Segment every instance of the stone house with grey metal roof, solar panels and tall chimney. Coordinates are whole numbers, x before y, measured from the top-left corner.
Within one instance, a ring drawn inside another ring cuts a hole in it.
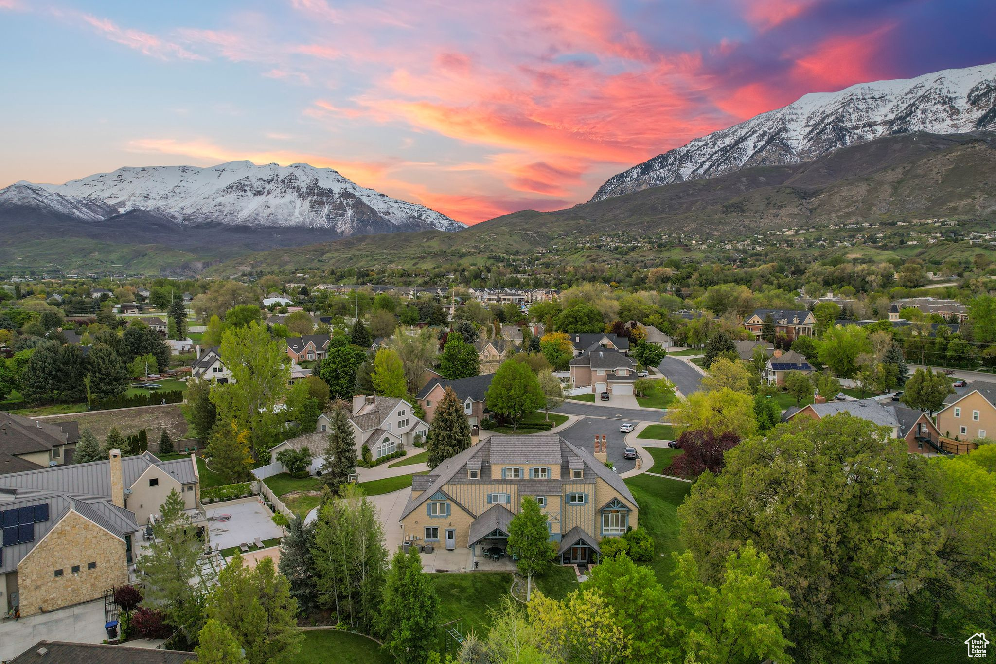
[[[33,615],[104,596],[132,580],[139,533],[169,492],[206,531],[192,458],[149,453],[0,476],[0,608]]]

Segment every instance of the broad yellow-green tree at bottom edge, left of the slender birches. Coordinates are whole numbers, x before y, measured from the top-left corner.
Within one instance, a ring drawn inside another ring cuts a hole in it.
[[[297,612],[287,578],[277,573],[273,558],[249,567],[238,552],[218,572],[205,606],[209,619],[231,630],[247,664],[287,662],[297,654],[304,639]]]

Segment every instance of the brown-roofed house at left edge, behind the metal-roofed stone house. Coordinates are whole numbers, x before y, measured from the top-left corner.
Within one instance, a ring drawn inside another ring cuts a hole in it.
[[[0,475],[73,463],[80,426],[0,411]]]

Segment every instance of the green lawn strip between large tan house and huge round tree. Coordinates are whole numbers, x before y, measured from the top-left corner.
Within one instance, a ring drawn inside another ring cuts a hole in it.
[[[639,505],[639,527],[646,529],[656,543],[650,566],[657,580],[669,586],[674,569],[671,552],[683,551],[677,509],[691,491],[691,485],[646,474],[631,477],[625,484]]]

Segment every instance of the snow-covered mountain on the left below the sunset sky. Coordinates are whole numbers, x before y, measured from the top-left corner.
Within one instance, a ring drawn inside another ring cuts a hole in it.
[[[18,182],[0,205],[54,209],[81,221],[145,210],[181,226],[313,228],[348,236],[464,225],[422,205],[361,187],[332,168],[229,161],[217,166],[124,167],[65,184]]]

